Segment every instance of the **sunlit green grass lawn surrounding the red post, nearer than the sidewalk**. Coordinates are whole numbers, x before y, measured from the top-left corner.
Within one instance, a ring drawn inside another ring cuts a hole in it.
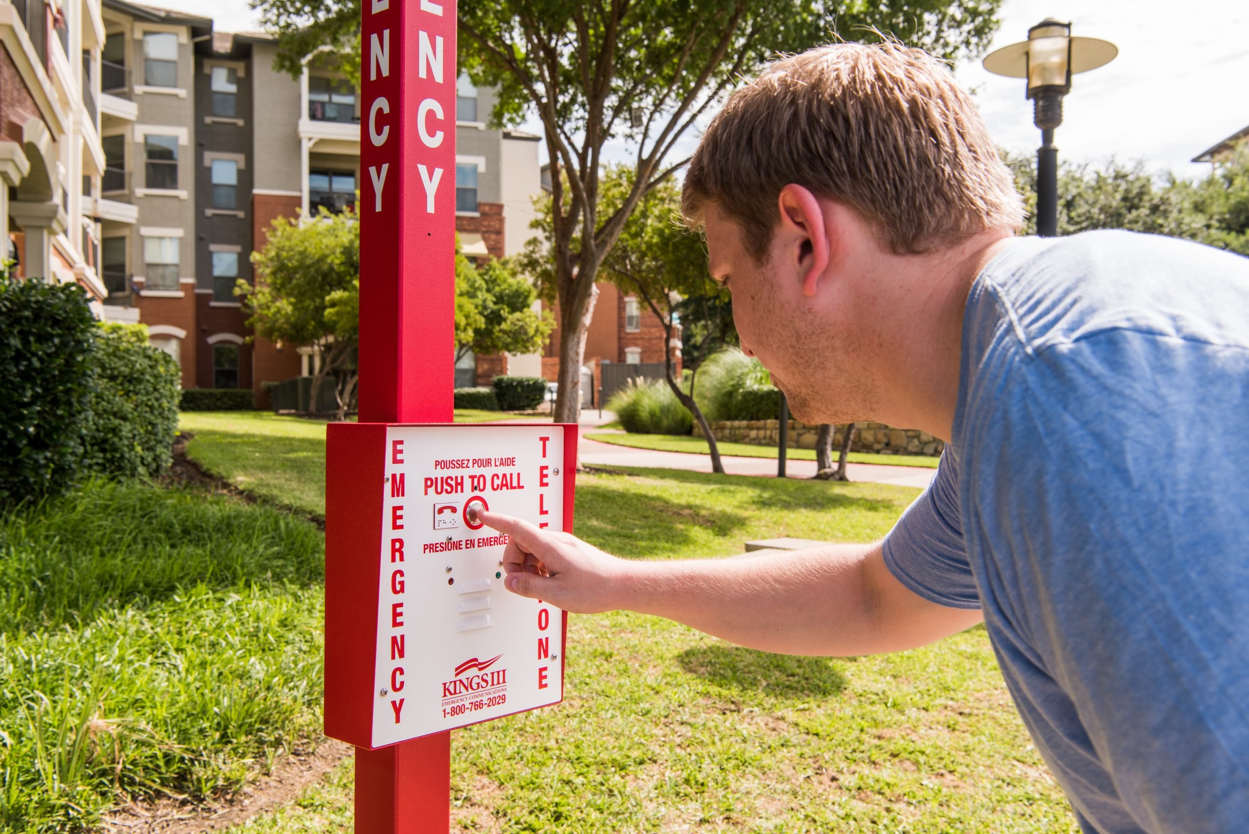
[[[205,466],[274,501],[299,483],[299,509],[323,507],[323,424],[182,426]],[[866,541],[916,494],[581,474],[576,532],[629,558]],[[315,743],[322,542],[280,509],[149,486],[0,521],[0,832],[76,830],[126,794],[221,794]],[[856,659],[741,649],[632,613],[573,617],[568,638],[563,704],[455,733],[456,830],[1077,830],[983,629]],[[346,834],[351,787],[343,763],[232,830]]]

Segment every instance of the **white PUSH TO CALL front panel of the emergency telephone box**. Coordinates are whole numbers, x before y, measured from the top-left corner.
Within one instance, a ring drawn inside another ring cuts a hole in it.
[[[558,703],[563,612],[503,587],[471,503],[563,529],[558,426],[390,426],[373,747]],[[466,517],[467,516],[467,517]]]

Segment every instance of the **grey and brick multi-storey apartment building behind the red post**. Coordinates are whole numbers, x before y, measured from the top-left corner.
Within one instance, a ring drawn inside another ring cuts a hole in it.
[[[105,316],[141,321],[186,388],[251,388],[315,371],[307,346],[251,338],[234,296],[277,217],[341,212],[360,190],[360,95],[313,54],[299,79],[276,42],[125,0],[104,2]],[[456,225],[471,257],[533,232],[537,137],[488,130],[490,90],[460,84]],[[537,373],[541,357],[470,357],[457,375]]]

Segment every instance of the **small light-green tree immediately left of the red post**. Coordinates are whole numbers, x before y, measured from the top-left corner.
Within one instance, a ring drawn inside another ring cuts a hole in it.
[[[312,345],[321,361],[312,377],[310,407],[335,378],[336,419],[355,411],[360,370],[360,222],[350,211],[321,208],[312,218],[279,217],[264,251],[251,256],[256,286],[239,281],[235,293],[247,326],[274,342]]]

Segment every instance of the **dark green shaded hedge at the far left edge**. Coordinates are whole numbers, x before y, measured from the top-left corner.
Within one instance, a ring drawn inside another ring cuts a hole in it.
[[[80,287],[0,272],[0,503],[64,492],[77,472],[94,332]]]

